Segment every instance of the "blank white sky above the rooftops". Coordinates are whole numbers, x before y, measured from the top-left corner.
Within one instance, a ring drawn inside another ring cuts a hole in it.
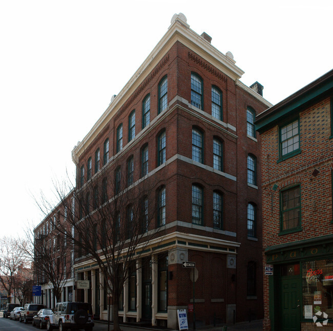
[[[40,222],[32,195],[54,198],[77,141],[180,12],[272,104],[332,69],[331,0],[0,0],[0,236]]]

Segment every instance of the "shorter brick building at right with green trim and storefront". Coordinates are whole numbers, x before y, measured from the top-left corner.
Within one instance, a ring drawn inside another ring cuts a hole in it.
[[[256,119],[263,264],[273,266],[264,275],[266,331],[332,328],[332,95],[329,71]]]

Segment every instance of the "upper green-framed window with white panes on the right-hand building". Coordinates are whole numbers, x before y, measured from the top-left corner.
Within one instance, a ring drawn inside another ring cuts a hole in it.
[[[300,120],[288,122],[279,128],[280,159],[292,157],[301,152],[300,149]]]

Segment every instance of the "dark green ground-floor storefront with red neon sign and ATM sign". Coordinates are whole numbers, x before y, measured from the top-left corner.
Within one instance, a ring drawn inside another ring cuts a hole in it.
[[[264,331],[333,329],[333,236],[267,247],[264,261]]]

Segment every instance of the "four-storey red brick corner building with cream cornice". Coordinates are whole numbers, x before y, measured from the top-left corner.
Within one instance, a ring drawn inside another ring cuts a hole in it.
[[[159,240],[136,265],[143,259],[159,263],[138,267],[125,283],[119,303],[124,322],[176,328],[176,309],[193,302],[186,261],[195,262],[198,275],[197,325],[212,324],[214,316],[217,322],[263,317],[260,139],[254,119],[272,105],[258,82],[252,88],[242,84],[242,74],[230,52],[222,54],[209,35],[198,35],[183,14],[174,15],[72,152],[77,194],[103,174],[115,174],[117,181],[118,169],[126,172],[128,187],[149,180],[154,190],[147,232],[158,228]],[[105,182],[96,184],[93,196]],[[74,286],[75,300],[91,301],[94,314],[107,319],[107,292],[94,261],[78,254],[74,275],[91,284]]]

